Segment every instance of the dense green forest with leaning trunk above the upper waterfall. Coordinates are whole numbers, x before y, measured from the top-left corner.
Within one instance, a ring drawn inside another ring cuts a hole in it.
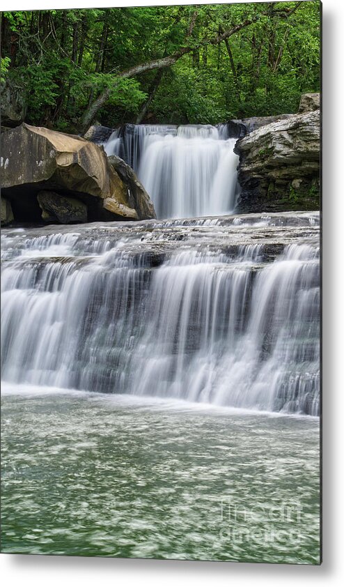
[[[214,124],[315,91],[318,1],[1,13],[1,92],[31,124]]]

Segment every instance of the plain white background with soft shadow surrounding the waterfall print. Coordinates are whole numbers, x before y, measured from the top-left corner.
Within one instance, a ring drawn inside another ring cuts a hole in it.
[[[244,1],[244,0],[238,0]],[[3,0],[1,10],[33,8],[105,8],[132,5],[189,4],[190,1],[137,0]],[[201,3],[201,2],[200,2]],[[203,3],[224,3],[203,2]],[[343,554],[343,6],[342,0],[323,0],[323,475],[324,563],[321,567],[248,563],[201,563],[135,559],[76,558],[60,556],[0,555],[5,585],[25,587],[83,587],[107,584],[140,587],[226,586],[279,587],[302,584],[336,585],[344,576]]]

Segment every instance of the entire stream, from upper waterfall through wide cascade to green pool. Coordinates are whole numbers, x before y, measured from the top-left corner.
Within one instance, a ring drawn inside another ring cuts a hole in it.
[[[233,142],[127,125],[162,220],[1,231],[2,551],[319,563],[319,213],[230,214]]]

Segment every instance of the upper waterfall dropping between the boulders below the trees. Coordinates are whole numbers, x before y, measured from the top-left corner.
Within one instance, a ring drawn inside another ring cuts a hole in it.
[[[227,125],[125,125],[104,148],[133,167],[157,218],[192,218],[234,210],[235,142]]]

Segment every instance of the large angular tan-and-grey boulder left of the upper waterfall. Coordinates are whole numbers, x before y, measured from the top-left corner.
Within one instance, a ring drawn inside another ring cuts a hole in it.
[[[38,220],[42,190],[84,202],[88,221],[155,218],[136,211],[101,146],[47,128],[23,123],[1,135],[1,183],[19,221]]]

